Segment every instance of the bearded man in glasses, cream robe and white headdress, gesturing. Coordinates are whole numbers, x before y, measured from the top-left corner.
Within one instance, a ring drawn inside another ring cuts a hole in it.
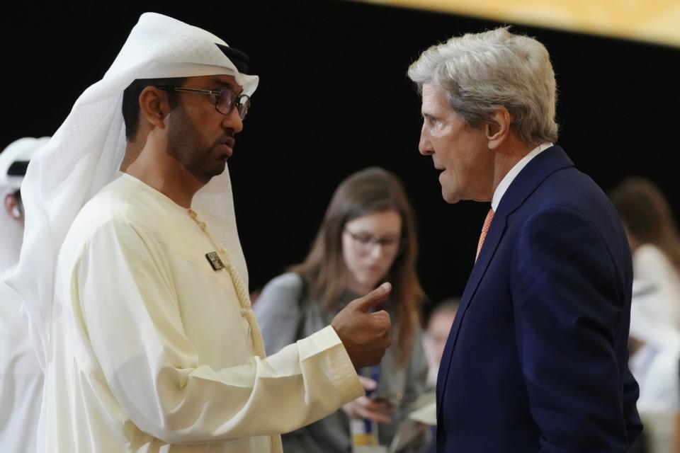
[[[280,432],[361,396],[354,368],[389,345],[389,316],[368,313],[382,285],[265,357],[225,171],[257,84],[247,62],[146,13],[29,166],[13,283],[50,320],[45,452],[280,452]],[[84,206],[57,212],[66,199]]]

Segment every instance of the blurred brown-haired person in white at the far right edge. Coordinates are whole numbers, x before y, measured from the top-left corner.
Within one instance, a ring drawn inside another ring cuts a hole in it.
[[[665,453],[680,409],[680,238],[673,210],[651,180],[626,178],[610,197],[633,253],[629,365],[647,427],[638,443]]]

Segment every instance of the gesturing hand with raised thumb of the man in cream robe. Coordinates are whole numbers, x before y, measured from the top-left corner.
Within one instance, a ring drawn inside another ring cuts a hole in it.
[[[390,315],[385,310],[368,313],[390,291],[392,285],[383,283],[364,297],[354,299],[331,321],[355,367],[378,365],[390,347]]]

